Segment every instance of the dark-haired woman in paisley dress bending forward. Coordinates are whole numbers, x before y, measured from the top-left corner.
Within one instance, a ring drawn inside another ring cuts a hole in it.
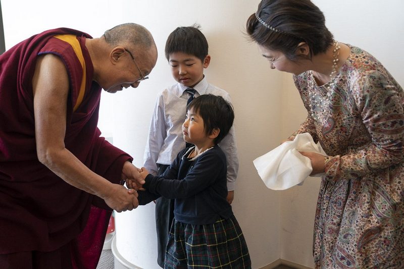
[[[316,268],[404,268],[404,92],[363,49],[337,42],[310,0],[262,0],[247,33],[272,69],[293,73],[310,133],[327,156],[317,202]]]

